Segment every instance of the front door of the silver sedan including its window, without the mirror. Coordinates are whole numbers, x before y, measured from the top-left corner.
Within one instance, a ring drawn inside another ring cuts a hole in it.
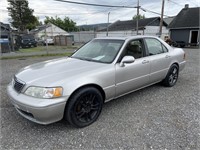
[[[150,61],[145,57],[145,47],[142,39],[130,41],[123,56],[133,56],[135,62],[116,64],[116,97],[134,91],[149,83]],[[122,56],[122,57],[123,57]]]

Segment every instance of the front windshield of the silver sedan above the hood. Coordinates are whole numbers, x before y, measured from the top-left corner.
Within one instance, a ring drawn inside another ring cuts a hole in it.
[[[124,40],[95,39],[81,47],[72,58],[111,63],[117,56]]]

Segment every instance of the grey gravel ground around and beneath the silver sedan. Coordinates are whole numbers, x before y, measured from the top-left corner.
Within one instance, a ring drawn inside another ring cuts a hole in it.
[[[1,60],[1,149],[200,149],[200,50],[185,51],[188,62],[176,86],[157,84],[108,102],[83,129],[65,121],[35,124],[8,99],[6,86],[20,68],[52,57]]]

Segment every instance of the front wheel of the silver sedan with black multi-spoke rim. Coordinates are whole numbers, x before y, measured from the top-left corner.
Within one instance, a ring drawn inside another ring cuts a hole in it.
[[[85,87],[69,99],[65,108],[65,120],[77,128],[86,127],[97,120],[103,105],[99,90]]]

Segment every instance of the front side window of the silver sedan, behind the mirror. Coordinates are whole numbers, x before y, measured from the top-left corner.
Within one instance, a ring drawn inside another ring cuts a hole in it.
[[[135,59],[143,56],[143,46],[141,40],[133,40],[126,46],[126,56],[133,56]]]

